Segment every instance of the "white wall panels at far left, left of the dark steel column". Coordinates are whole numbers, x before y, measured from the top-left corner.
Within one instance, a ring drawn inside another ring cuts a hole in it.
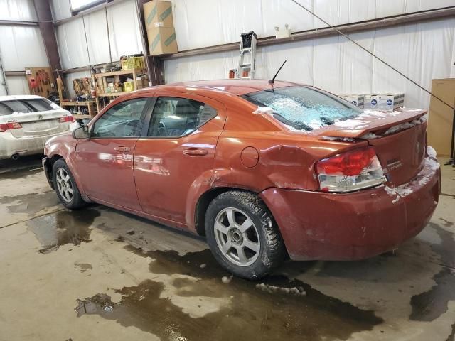
[[[33,0],[0,0],[0,20],[36,21]],[[38,26],[0,25],[0,53],[5,71],[48,67],[43,37]],[[7,76],[9,94],[28,94],[25,76]],[[0,93],[5,89],[0,85]]]

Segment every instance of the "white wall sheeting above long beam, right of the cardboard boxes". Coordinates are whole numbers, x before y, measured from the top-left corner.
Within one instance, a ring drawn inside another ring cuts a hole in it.
[[[332,25],[454,6],[454,0],[298,0]],[[232,43],[240,33],[274,36],[274,26],[292,32],[325,27],[290,0],[172,0],[179,50]]]

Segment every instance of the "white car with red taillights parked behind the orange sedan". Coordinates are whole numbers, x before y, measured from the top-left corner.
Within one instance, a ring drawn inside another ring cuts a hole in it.
[[[0,96],[0,160],[43,153],[45,141],[77,128],[68,110],[40,96]]]

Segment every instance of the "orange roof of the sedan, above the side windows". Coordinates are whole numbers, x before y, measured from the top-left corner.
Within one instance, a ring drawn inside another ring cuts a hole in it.
[[[240,96],[242,94],[248,94],[250,92],[257,92],[261,90],[267,90],[277,87],[291,87],[297,85],[292,82],[283,82],[277,80],[274,84],[270,84],[268,80],[196,80],[190,82],[180,82],[166,85],[157,85],[149,87],[138,92],[172,92],[172,91],[185,91],[193,87],[195,89],[203,88],[204,90],[223,91],[229,92]]]

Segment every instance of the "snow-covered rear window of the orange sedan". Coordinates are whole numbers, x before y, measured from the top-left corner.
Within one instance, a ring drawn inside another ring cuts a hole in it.
[[[244,94],[242,98],[259,107],[272,108],[275,119],[297,130],[319,129],[362,113],[344,99],[314,87],[279,87]]]

